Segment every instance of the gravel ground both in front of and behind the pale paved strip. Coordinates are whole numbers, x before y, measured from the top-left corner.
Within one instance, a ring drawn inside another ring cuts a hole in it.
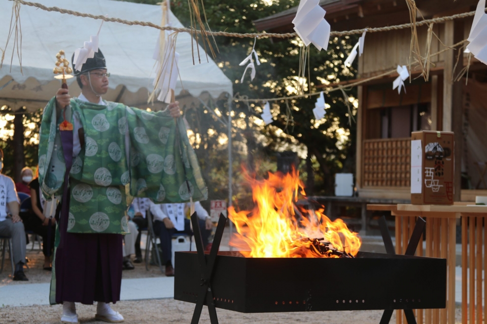
[[[43,270],[44,256],[39,250],[27,252],[29,268],[25,274],[30,283],[50,282],[51,272]],[[150,266],[146,271],[145,263],[134,264],[134,270],[124,270],[123,278],[145,278],[164,276],[157,266]],[[10,264],[6,260],[4,271],[0,273],[0,286],[25,285],[25,282],[13,281],[10,274]],[[27,284],[27,285],[28,285]],[[194,304],[175,301],[173,299],[121,301],[113,306],[125,317],[125,323],[189,323],[191,321]],[[100,323],[94,319],[96,306],[77,304],[77,312],[81,323]],[[0,307],[0,324],[7,323],[59,323],[62,306],[22,306]],[[377,324],[382,311],[344,311],[344,312],[306,312],[306,313],[259,313],[242,314],[224,309],[217,309],[221,323],[231,324],[291,324],[291,323],[327,323],[327,324]],[[391,323],[396,322],[395,313]],[[461,310],[456,310],[456,322],[461,322]],[[200,323],[210,323],[207,308],[203,308]]]

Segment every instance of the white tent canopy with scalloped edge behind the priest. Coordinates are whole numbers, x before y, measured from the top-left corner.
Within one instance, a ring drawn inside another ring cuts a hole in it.
[[[0,0],[2,49],[8,37],[12,5],[12,1]],[[125,20],[149,21],[157,25],[162,18],[160,6],[112,0],[44,0],[43,5]],[[172,13],[169,19],[172,26],[183,27]],[[85,41],[89,41],[91,34],[96,34],[101,20],[47,12],[28,6],[21,6],[20,20],[23,73],[20,71],[16,52],[10,66],[14,45],[11,38],[4,65],[0,69],[0,106],[9,105],[14,109],[26,106],[29,110],[36,110],[45,106],[59,88],[60,82],[54,79],[52,72],[56,53],[64,50],[71,62],[72,53],[76,48],[82,47]],[[152,56],[159,32],[151,27],[103,23],[99,34],[99,48],[105,55],[108,71],[111,72],[110,90],[103,98],[130,106],[150,107],[146,102],[148,92],[153,89],[155,61]],[[206,62],[201,47],[199,53],[202,63],[198,64],[195,57],[196,64],[193,65],[191,42],[189,33],[178,35],[176,50],[180,54],[178,66],[181,82],[178,80],[176,94],[180,94],[184,87],[194,97],[203,92],[208,92],[213,98],[218,98],[222,93],[231,96],[232,82],[210,56],[210,62]],[[193,45],[196,46],[196,43]],[[196,47],[194,51],[196,56]],[[78,96],[80,92],[75,80],[68,80],[72,96]]]

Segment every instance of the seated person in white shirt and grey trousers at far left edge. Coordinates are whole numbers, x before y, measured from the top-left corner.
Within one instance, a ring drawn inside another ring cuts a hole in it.
[[[25,230],[19,216],[19,197],[14,180],[1,173],[4,152],[0,149],[0,236],[12,238],[12,255],[15,264],[14,280],[27,281],[24,274]]]

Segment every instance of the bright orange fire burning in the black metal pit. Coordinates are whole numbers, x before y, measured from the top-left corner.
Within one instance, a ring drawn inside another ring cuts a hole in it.
[[[362,241],[341,219],[332,222],[323,207],[306,210],[295,204],[299,195],[306,197],[298,172],[268,175],[262,181],[248,177],[252,211],[228,209],[238,232],[231,246],[247,258],[338,258],[358,253]]]

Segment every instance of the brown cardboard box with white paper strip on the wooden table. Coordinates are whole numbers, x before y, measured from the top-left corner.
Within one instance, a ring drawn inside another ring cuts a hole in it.
[[[453,132],[411,133],[411,204],[453,205]]]

